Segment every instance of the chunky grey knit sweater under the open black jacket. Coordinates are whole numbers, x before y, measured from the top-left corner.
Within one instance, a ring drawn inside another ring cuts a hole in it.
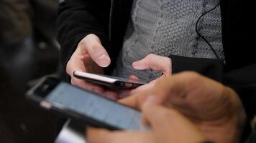
[[[150,53],[215,59],[213,51],[196,34],[195,27],[198,17],[218,2],[219,0],[134,0],[132,17],[113,74],[118,77],[134,74],[146,81],[159,77],[159,72],[137,71],[132,68],[132,62],[143,59]],[[219,7],[201,19],[198,29],[218,56],[224,59]]]

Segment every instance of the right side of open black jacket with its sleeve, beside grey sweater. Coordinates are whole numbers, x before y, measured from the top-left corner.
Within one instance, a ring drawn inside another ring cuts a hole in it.
[[[173,72],[193,70],[234,89],[247,114],[244,140],[256,114],[255,5],[252,1],[222,0],[221,21],[225,66],[211,59],[170,56]],[[199,63],[199,64],[198,64]]]

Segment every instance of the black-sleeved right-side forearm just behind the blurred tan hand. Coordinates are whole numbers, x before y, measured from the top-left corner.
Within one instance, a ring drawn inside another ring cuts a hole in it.
[[[239,99],[247,115],[245,129],[242,135],[244,140],[250,132],[250,120],[256,113],[256,64],[244,66],[240,69],[224,69],[224,65],[213,59],[197,59],[181,56],[170,56],[172,59],[173,73],[192,70],[204,74],[224,85],[231,87],[237,92]],[[241,59],[242,61],[242,59]]]

